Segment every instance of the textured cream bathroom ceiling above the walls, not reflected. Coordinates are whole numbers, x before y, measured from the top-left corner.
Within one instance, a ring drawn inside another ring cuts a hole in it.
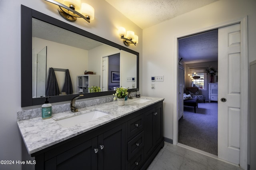
[[[142,29],[215,1],[217,0],[106,0]]]

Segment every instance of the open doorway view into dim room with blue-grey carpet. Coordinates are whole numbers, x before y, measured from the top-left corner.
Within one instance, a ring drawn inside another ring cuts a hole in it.
[[[179,38],[178,54],[178,77],[184,77],[179,81],[179,91],[180,88],[183,89],[182,96],[179,97],[179,111],[183,113],[179,113],[178,143],[217,156],[218,103],[210,102],[208,94],[209,83],[214,83],[218,87],[218,29]],[[180,71],[180,67],[184,68],[184,73]],[[208,73],[209,68],[212,73]],[[197,102],[197,108],[187,104],[183,106],[183,101]]]

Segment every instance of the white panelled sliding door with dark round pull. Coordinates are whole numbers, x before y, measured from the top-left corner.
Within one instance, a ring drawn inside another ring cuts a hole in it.
[[[240,24],[218,30],[218,157],[240,164]],[[247,83],[245,84],[247,86]]]

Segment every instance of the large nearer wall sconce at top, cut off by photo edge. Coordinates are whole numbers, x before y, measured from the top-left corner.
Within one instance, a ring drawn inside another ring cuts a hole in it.
[[[81,3],[81,0],[62,0],[64,4],[55,0],[45,1],[58,5],[60,16],[68,21],[73,22],[76,21],[76,18],[84,18],[84,20],[90,23],[90,20],[94,20],[94,8],[89,4]]]

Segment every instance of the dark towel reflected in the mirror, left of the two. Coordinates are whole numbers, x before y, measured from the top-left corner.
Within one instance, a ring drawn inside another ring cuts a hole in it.
[[[59,85],[56,79],[54,69],[49,68],[49,75],[46,85],[46,96],[56,96],[60,94]]]

